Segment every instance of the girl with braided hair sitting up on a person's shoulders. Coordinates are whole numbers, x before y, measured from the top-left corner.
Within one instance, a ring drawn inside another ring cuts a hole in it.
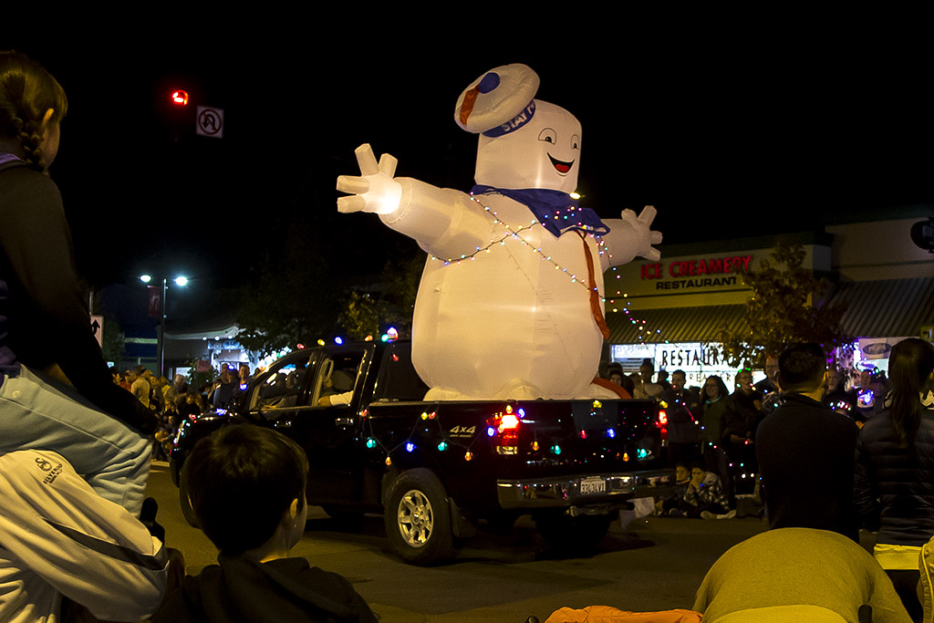
[[[0,51],[0,455],[53,450],[137,514],[155,419],[115,385],[49,177],[68,103],[41,65]]]

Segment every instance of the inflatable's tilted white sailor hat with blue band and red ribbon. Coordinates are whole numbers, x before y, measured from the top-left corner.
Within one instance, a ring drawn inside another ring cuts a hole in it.
[[[524,64],[490,69],[460,93],[454,120],[461,128],[491,138],[515,132],[535,114],[538,74]]]

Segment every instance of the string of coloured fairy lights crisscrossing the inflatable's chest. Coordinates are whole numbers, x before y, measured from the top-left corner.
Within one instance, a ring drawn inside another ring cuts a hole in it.
[[[512,239],[516,240],[522,247],[524,247],[524,248],[530,248],[531,251],[533,251],[534,253],[537,253],[537,254],[539,255],[539,257],[541,257],[541,259],[542,259],[543,262],[549,262],[549,263],[551,263],[551,265],[555,267],[555,270],[560,271],[561,273],[564,273],[564,274],[568,275],[568,277],[571,279],[571,282],[572,282],[572,283],[578,283],[578,284],[580,284],[580,285],[584,288],[584,290],[587,290],[588,293],[589,293],[591,290],[596,291],[597,294],[601,296],[601,301],[603,302],[604,305],[605,305],[605,304],[616,304],[616,300],[615,300],[615,299],[607,299],[606,297],[604,297],[604,296],[601,295],[600,290],[599,290],[597,284],[594,284],[594,285],[592,286],[592,288],[591,288],[591,286],[590,286],[589,284],[587,284],[587,278],[586,278],[586,276],[585,276],[585,277],[578,277],[578,276],[577,276],[575,273],[573,273],[573,272],[570,272],[570,273],[569,273],[567,267],[562,266],[561,264],[559,264],[559,262],[556,262],[556,261],[553,259],[553,257],[550,256],[550,255],[547,255],[547,254],[545,253],[545,251],[544,251],[541,247],[536,246],[535,244],[529,242],[529,241],[528,241],[526,238],[524,238],[522,235],[520,235],[522,232],[527,232],[527,231],[531,230],[531,229],[532,229],[533,227],[535,227],[535,226],[544,227],[544,225],[543,225],[538,219],[531,219],[531,221],[529,221],[528,224],[522,224],[522,225],[519,225],[518,227],[514,227],[513,225],[511,225],[511,224],[505,222],[504,220],[502,220],[502,219],[500,218],[499,213],[498,213],[496,210],[492,209],[489,205],[484,205],[483,202],[481,202],[481,201],[479,200],[479,198],[477,198],[476,196],[474,196],[473,193],[470,194],[470,200],[473,201],[474,203],[476,203],[477,205],[479,205],[480,207],[483,208],[483,210],[484,210],[484,211],[489,215],[489,217],[492,219],[492,224],[493,224],[493,225],[500,225],[500,226],[502,226],[502,228],[503,228],[503,230],[504,230],[504,234],[502,234],[501,237],[498,237],[498,238],[495,238],[494,240],[491,240],[491,241],[489,242],[489,244],[486,245],[486,246],[483,246],[483,247],[476,247],[473,253],[463,254],[463,255],[461,255],[460,257],[441,258],[441,257],[438,257],[437,255],[432,255],[432,256],[431,256],[432,262],[444,262],[444,264],[445,264],[446,266],[449,266],[449,265],[451,265],[451,264],[457,265],[457,264],[460,264],[460,262],[473,262],[473,261],[477,258],[477,256],[479,256],[481,253],[489,253],[493,248],[495,248],[495,247],[497,247],[497,246],[504,246],[504,245],[506,244],[506,241],[509,240],[510,238],[512,238]],[[555,211],[555,215],[554,215],[553,218],[554,218],[555,220],[566,220],[566,219],[569,219],[569,218],[570,218],[570,219],[573,219],[573,218],[576,216],[574,213],[575,213],[577,210],[578,210],[578,208],[575,207],[574,205],[569,205],[569,206],[568,206],[567,208],[565,208],[564,210],[556,210],[556,211]],[[594,228],[593,228],[593,227],[591,227],[591,226],[589,226],[589,225],[586,225],[586,224],[582,223],[581,221],[577,221],[577,223],[576,223],[575,225],[576,225],[577,227],[580,227],[580,228],[582,228],[582,229],[584,229],[584,230],[587,231],[587,235],[588,235],[590,238],[592,238],[592,239],[594,240],[594,242],[597,244],[597,250],[598,250],[598,253],[599,253],[600,255],[606,254],[607,257],[609,257],[609,258],[612,258],[612,257],[613,257],[613,255],[612,255],[612,254],[609,252],[609,250],[606,248],[606,244],[603,242],[603,239],[601,238],[601,236],[599,236],[599,235],[597,235],[597,234],[594,233],[594,231],[593,231]],[[613,270],[614,270],[614,272],[616,272],[616,267],[614,267]],[[620,278],[620,276],[619,276],[619,275],[616,275],[616,278],[618,279],[618,278]],[[628,298],[629,298],[629,294],[621,294],[620,291],[618,291],[618,290],[616,291],[616,294],[617,294],[617,296],[622,296],[622,298],[624,298],[624,299],[628,299]],[[631,317],[630,310],[629,310],[630,303],[631,303],[630,301],[626,301],[626,304],[625,304],[624,308],[622,309],[622,313],[625,314],[626,316],[630,317],[630,323],[633,324],[633,325],[635,325],[635,326],[637,327],[637,330],[638,330],[638,332],[639,332],[638,338],[639,338],[640,342],[644,344],[645,340],[646,340],[647,338],[649,338],[650,336],[652,336],[653,334],[654,334],[654,335],[661,335],[661,330],[659,330],[659,329],[657,329],[657,330],[655,330],[654,332],[652,332],[652,331],[649,329],[649,327],[648,327],[648,322],[647,322],[646,320],[644,320],[644,319],[635,319],[635,318],[632,318],[632,317]],[[607,311],[610,311],[610,310],[608,309]],[[619,310],[619,307],[613,307],[613,308],[612,308],[612,311],[618,313],[620,310]],[[667,343],[668,340],[665,340],[665,342]]]

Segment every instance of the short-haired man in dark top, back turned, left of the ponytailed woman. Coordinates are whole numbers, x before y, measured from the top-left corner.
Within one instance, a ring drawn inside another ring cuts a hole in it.
[[[771,528],[816,528],[858,540],[853,457],[859,429],[821,404],[827,358],[814,343],[779,356],[785,404],[762,420],[756,451]]]

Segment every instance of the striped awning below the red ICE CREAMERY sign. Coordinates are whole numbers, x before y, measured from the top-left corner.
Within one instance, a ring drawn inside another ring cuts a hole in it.
[[[723,329],[735,331],[743,322],[745,305],[664,307],[610,312],[610,344],[717,342]]]

